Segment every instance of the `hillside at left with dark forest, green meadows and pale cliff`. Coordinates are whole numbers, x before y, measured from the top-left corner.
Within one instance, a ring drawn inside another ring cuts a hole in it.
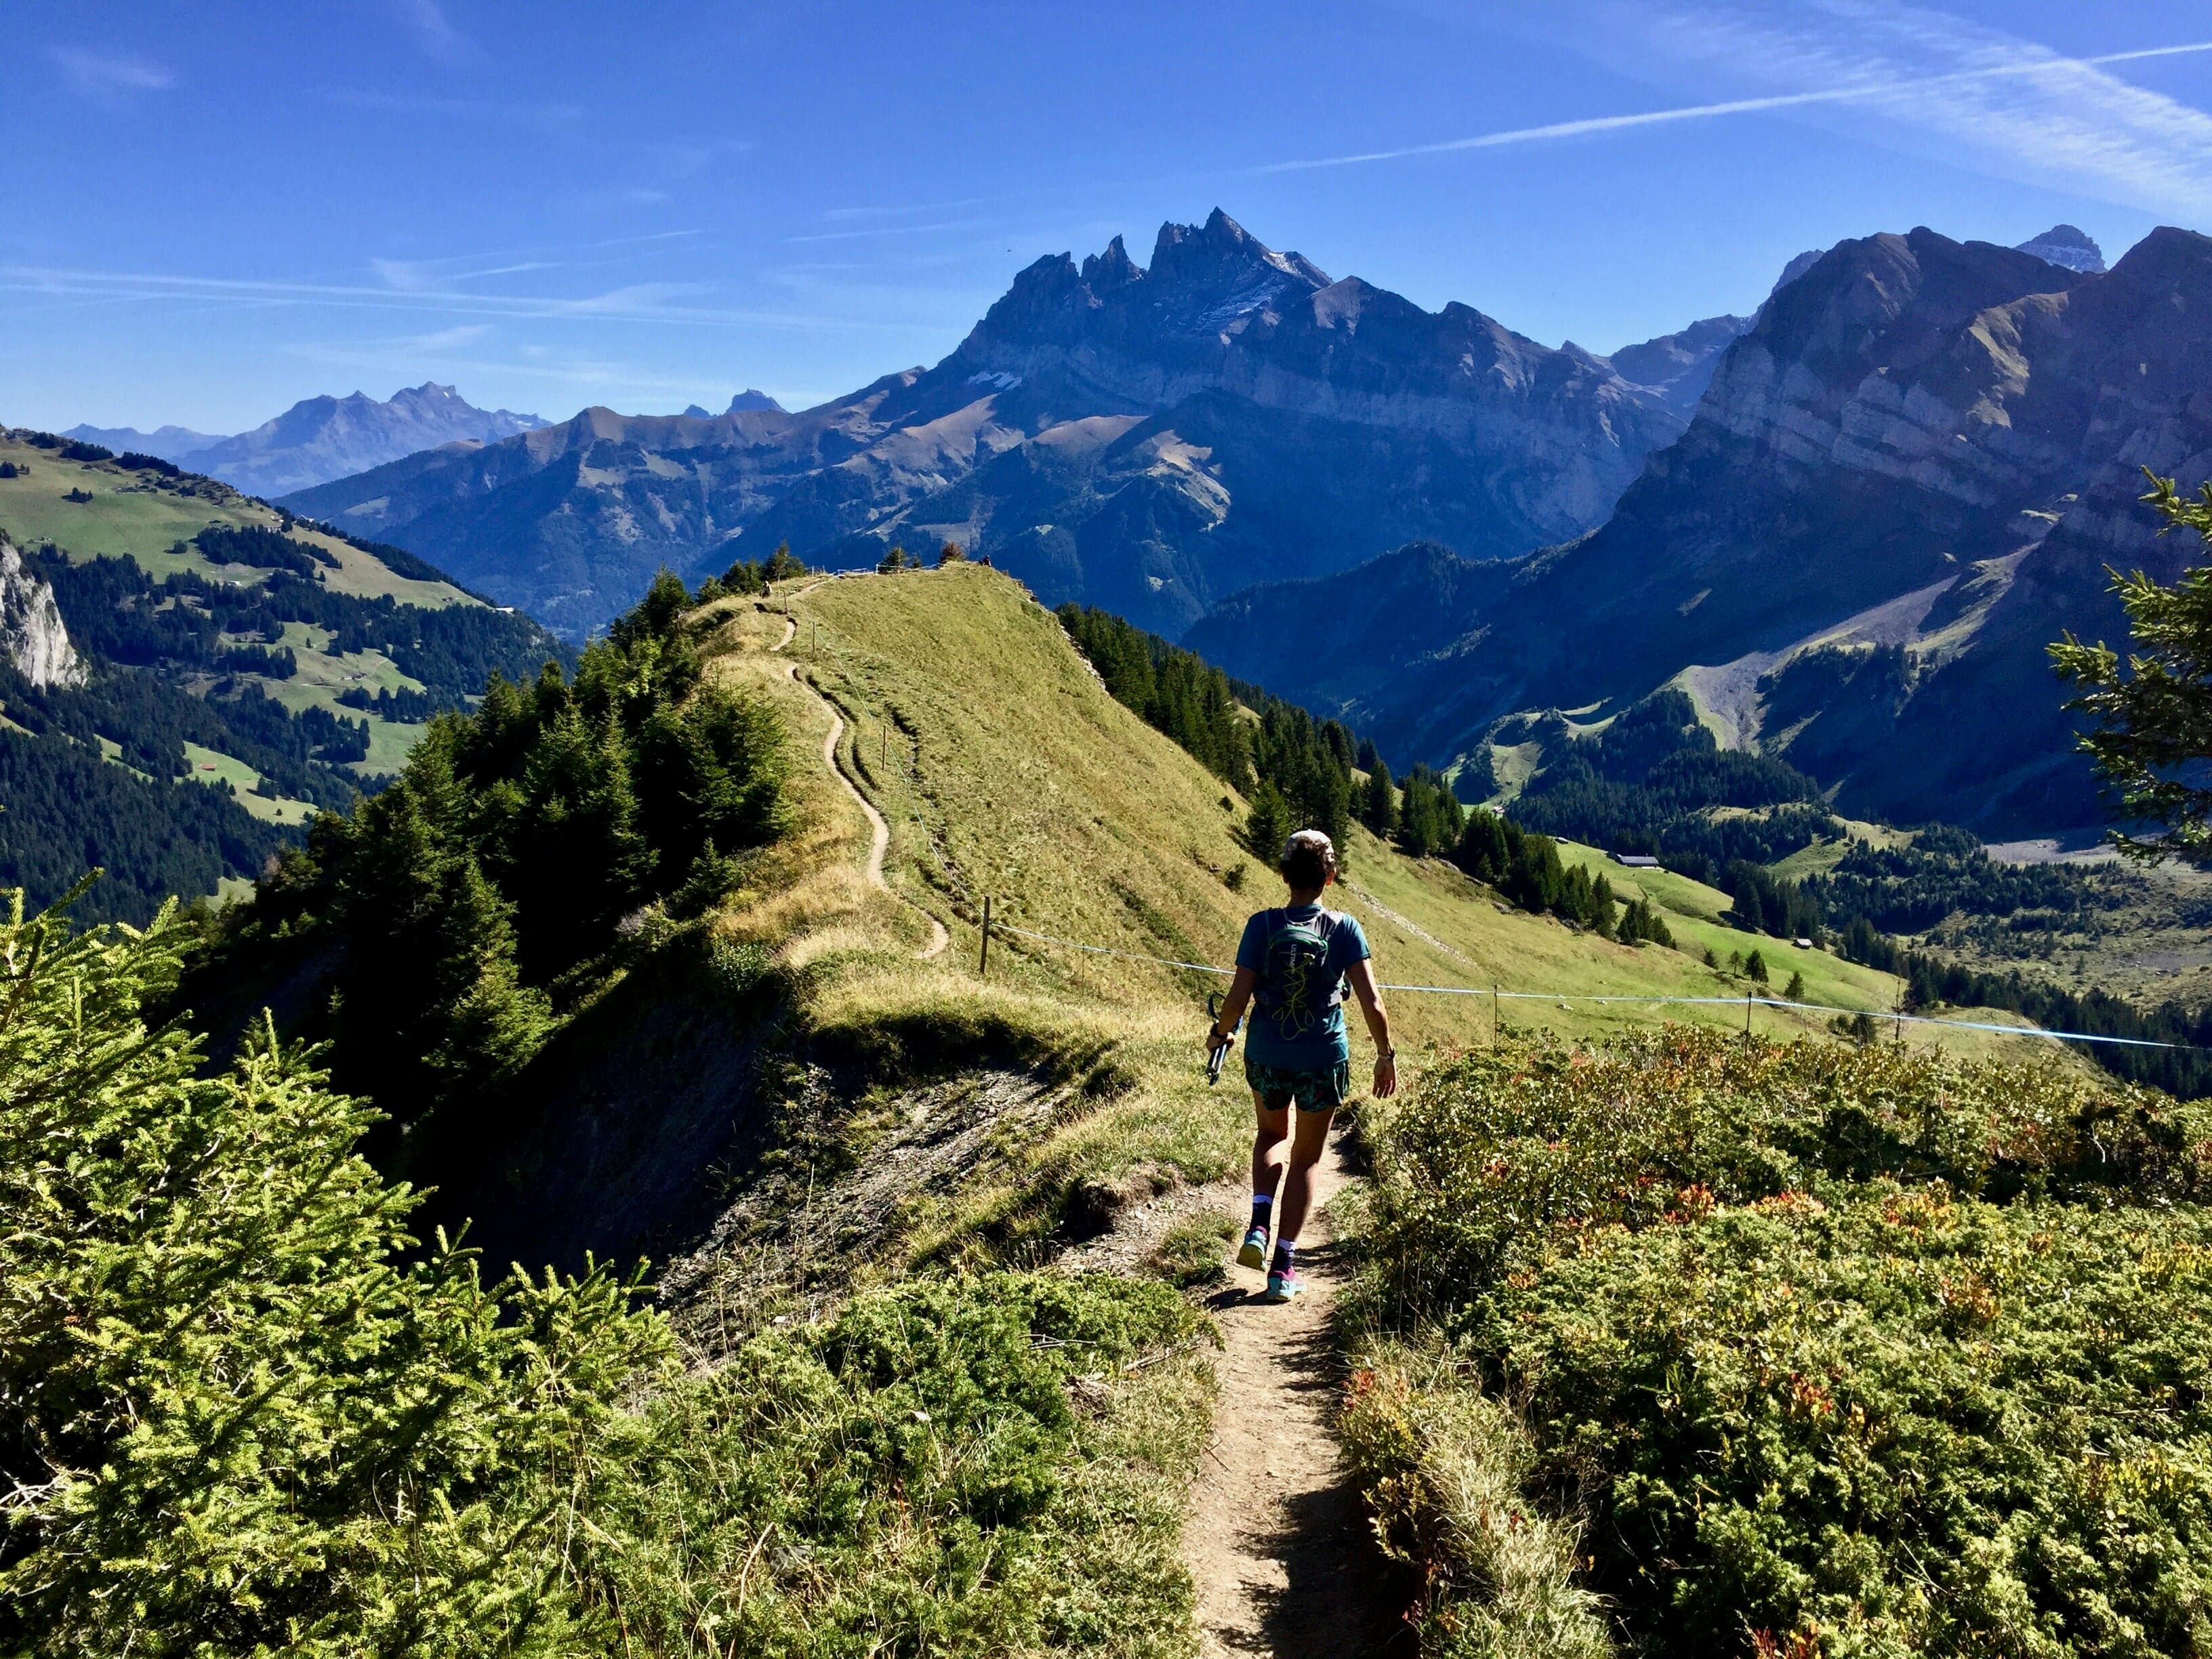
[[[108,878],[84,920],[144,922],[168,894],[250,880],[307,816],[396,772],[431,712],[491,672],[571,659],[409,553],[150,456],[27,431],[0,431],[0,544],[20,564],[0,878],[31,902],[86,865]]]

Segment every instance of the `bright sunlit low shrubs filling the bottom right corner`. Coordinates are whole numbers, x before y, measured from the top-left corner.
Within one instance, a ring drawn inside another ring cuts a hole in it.
[[[1887,1181],[1586,1237],[1469,1349],[1655,1655],[2212,1641],[2212,1217]]]

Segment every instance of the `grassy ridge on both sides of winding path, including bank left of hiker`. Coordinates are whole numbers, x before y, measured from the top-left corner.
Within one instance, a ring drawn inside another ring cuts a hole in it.
[[[1225,980],[1166,962],[1230,962],[1245,916],[1281,898],[1267,863],[1239,841],[1245,801],[1117,703],[1057,617],[1004,573],[841,577],[765,602],[717,599],[697,626],[708,672],[774,703],[790,732],[796,827],[748,874],[721,927],[770,953],[814,1051],[858,1055],[878,1079],[876,1106],[896,1097],[907,1115],[933,1110],[920,1091],[945,1079],[1082,1079],[1075,1102],[1022,1121],[1009,1108],[1006,1121],[980,1126],[987,1152],[887,1199],[896,1214],[872,1225],[863,1276],[1042,1261],[1071,1228],[1108,1225],[1124,1203],[1237,1172],[1248,1095],[1234,1064],[1212,1091],[1199,1064],[1206,995]],[[865,876],[872,825],[814,759],[825,703],[845,726],[838,770],[889,825],[885,889]],[[1679,878],[1648,887],[1686,949],[1615,945],[1513,911],[1455,867],[1405,858],[1365,830],[1332,902],[1360,918],[1387,982],[1548,993],[1504,1002],[1509,1029],[1586,1040],[1688,1020],[1741,1031],[1747,982],[1703,960],[1708,940],[1723,962],[1732,940],[1747,945],[1714,920],[1725,896]],[[993,938],[980,975],[987,896]],[[925,960],[927,918],[951,945]],[[1774,940],[1759,949],[1774,991],[1803,971],[1812,1000],[1896,1002],[1885,973]],[[1557,1000],[1590,995],[1728,1002]],[[1391,1013],[1409,1082],[1491,1040],[1486,993],[1394,993]],[[1352,1024],[1360,1075],[1371,1055]],[[1756,1009],[1754,1029],[1829,1040],[1825,1015]],[[2044,1046],[1940,1026],[1907,1026],[1905,1040],[1964,1055]],[[1035,1104],[1035,1091],[1013,1097]],[[865,1170],[887,1146],[880,1135],[907,1133],[891,1121],[898,1110],[874,1128],[860,1126],[865,1115],[825,1126],[838,1150],[818,1168]],[[1071,1221],[1086,1206],[1091,1223]],[[670,1294],[695,1307],[750,1296],[745,1250],[757,1243],[757,1228],[726,1219],[672,1272]]]

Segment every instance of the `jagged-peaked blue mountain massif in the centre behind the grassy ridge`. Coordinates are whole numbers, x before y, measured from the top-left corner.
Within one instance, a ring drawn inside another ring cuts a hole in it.
[[[1040,259],[949,358],[816,409],[586,409],[290,504],[571,635],[659,564],[697,577],[779,542],[872,564],[947,538],[1051,599],[1179,633],[1252,582],[1411,538],[1515,557],[1601,524],[1747,321],[1628,347],[1628,374],[1332,281],[1217,210],[1161,226],[1150,265],[1119,239]]]

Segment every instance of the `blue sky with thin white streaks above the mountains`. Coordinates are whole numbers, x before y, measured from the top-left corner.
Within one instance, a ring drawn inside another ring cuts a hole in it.
[[[799,407],[1217,204],[1599,352],[1874,230],[2212,230],[2212,4],[75,0],[9,44],[13,425]]]

